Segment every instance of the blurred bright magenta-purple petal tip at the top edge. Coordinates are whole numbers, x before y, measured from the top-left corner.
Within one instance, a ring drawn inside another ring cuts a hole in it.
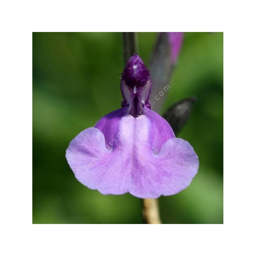
[[[171,46],[171,61],[176,64],[183,41],[183,32],[168,32],[168,38]]]

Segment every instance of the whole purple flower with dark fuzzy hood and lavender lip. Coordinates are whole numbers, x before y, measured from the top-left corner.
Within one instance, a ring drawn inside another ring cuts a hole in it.
[[[152,83],[138,55],[121,78],[122,108],[80,132],[66,157],[76,179],[102,194],[140,198],[169,196],[187,188],[198,169],[190,144],[175,138],[168,122],[151,110]]]

